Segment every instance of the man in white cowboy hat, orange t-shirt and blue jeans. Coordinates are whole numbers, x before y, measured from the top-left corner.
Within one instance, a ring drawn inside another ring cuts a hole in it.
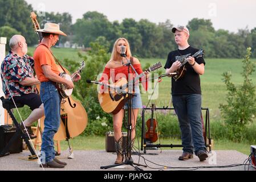
[[[44,105],[44,131],[42,134],[42,161],[43,167],[64,168],[67,163],[60,162],[55,158],[54,150],[54,135],[59,129],[60,125],[60,102],[58,90],[55,83],[64,84],[67,89],[74,88],[72,81],[59,76],[59,70],[55,63],[54,56],[51,52],[51,47],[59,40],[59,35],[64,35],[64,32],[59,30],[59,25],[55,23],[46,23],[44,29],[36,30],[42,32],[42,42],[35,49],[35,72],[38,80],[41,82],[40,97]],[[71,75],[71,77],[74,73]],[[80,80],[81,76],[78,74],[73,81]]]

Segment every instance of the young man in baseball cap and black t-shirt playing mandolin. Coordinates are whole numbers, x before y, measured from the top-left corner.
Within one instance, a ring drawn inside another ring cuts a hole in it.
[[[184,26],[172,28],[175,42],[178,45],[176,51],[171,51],[166,60],[166,73],[177,72],[172,77],[172,102],[178,116],[181,129],[183,154],[179,160],[193,158],[193,152],[200,161],[206,160],[208,154],[205,147],[201,126],[201,86],[200,75],[204,74],[205,61],[203,57],[193,57],[199,51],[188,44],[189,30]],[[184,61],[186,71],[181,74]],[[182,75],[181,77],[178,77]]]

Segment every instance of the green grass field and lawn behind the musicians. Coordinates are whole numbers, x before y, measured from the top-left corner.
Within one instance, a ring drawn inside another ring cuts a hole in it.
[[[29,52],[34,52],[34,47],[29,47]],[[53,48],[55,56],[61,61],[65,58],[78,60],[78,49],[71,48]],[[79,51],[82,52],[82,51]],[[84,54],[84,52],[82,52]],[[205,59],[205,74],[201,76],[201,89],[202,89],[202,107],[208,107],[210,110],[210,121],[218,121],[221,119],[220,104],[226,103],[226,86],[222,81],[222,73],[230,71],[232,74],[231,81],[235,85],[242,84],[242,58],[241,59]],[[256,59],[252,59],[256,63]],[[160,61],[162,64],[162,73],[165,72],[164,65],[165,59],[140,59],[142,66],[146,63],[155,64]],[[107,62],[107,60],[106,60]],[[253,83],[256,84],[256,72],[251,76]],[[142,94],[143,105],[148,103],[148,98],[151,96],[149,93]],[[159,83],[158,97],[152,100],[157,107],[169,106],[170,104],[170,78],[164,77]],[[90,117],[90,116],[89,116]],[[169,139],[163,139],[162,143],[169,143]],[[173,144],[181,143],[180,140],[172,140]],[[67,147],[66,142],[62,142],[63,149]],[[74,139],[75,150],[90,150],[100,149],[105,147],[104,137],[76,137]],[[174,148],[175,149],[175,148]],[[250,144],[247,143],[234,143],[226,140],[214,141],[214,149],[216,150],[238,150],[244,154],[249,154]]]

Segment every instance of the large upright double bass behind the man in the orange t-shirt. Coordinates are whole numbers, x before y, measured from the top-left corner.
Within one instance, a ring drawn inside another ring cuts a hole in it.
[[[39,30],[40,26],[36,19],[36,14],[31,13],[34,30]],[[43,39],[42,34],[37,32],[39,42]],[[70,75],[68,70],[60,65],[57,65],[60,72],[65,72]],[[40,90],[40,89],[38,89]],[[80,135],[87,126],[87,113],[80,101],[74,100],[72,96],[63,98],[60,104],[60,127],[58,132],[54,135],[54,140],[68,140]],[[40,129],[44,128],[44,117],[40,119]]]

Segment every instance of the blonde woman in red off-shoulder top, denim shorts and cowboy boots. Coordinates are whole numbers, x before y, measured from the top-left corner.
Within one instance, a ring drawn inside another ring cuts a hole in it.
[[[123,51],[125,51],[126,58],[121,56],[121,50],[123,47]],[[116,40],[113,51],[111,55],[111,59],[105,65],[105,69],[103,72],[103,76],[101,77],[100,81],[108,82],[109,79],[112,82],[118,81],[120,78],[126,78],[128,80],[128,75],[133,77],[136,76],[135,72],[131,67],[129,67],[128,71],[128,61],[131,61],[135,71],[140,75],[143,73],[140,65],[140,61],[136,57],[132,57],[131,49],[129,47],[128,40],[125,38],[119,38]],[[144,72],[147,75],[147,72]],[[147,89],[147,83],[143,84],[144,88]],[[105,88],[106,89],[106,88]],[[101,90],[102,91],[102,90]],[[139,112],[139,109],[142,108],[142,102],[140,97],[140,89],[139,84],[135,84],[134,86],[135,96],[132,97],[132,117],[131,117],[131,144],[135,141],[135,125],[136,119]],[[114,131],[114,139],[115,139],[115,150],[117,152],[117,158],[115,164],[120,164],[124,160],[124,154],[126,154],[127,146],[126,142],[123,141],[123,137],[121,134],[121,128],[123,125],[123,118],[124,118],[124,109],[127,109],[127,104],[124,105],[123,109],[118,111],[117,113],[113,114],[113,131]]]

